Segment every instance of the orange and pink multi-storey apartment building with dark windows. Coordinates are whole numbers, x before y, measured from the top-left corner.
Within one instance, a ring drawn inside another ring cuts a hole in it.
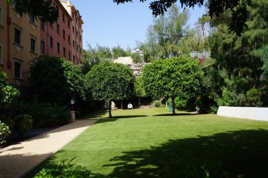
[[[40,55],[82,63],[83,20],[71,1],[54,0],[57,23],[43,23],[29,15],[18,15],[13,6],[0,0],[0,70],[14,86],[29,87],[29,61]]]

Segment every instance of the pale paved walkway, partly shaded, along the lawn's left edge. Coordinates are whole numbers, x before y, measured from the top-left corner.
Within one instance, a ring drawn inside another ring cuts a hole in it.
[[[77,120],[0,150],[0,177],[23,177],[97,120]]]

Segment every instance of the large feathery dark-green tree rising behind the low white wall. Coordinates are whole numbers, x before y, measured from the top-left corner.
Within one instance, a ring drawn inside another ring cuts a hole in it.
[[[214,83],[217,86],[212,84],[215,87],[212,90],[221,90],[217,98],[221,106],[247,106],[245,94],[254,88],[260,90],[262,106],[267,105],[264,99],[267,97],[267,92],[264,92],[267,84],[260,80],[264,61],[260,58],[259,50],[268,44],[268,1],[254,0],[247,9],[247,27],[240,36],[229,32],[231,11],[225,11],[210,22],[214,28],[209,36],[212,58],[215,59],[212,67],[218,70],[218,74],[213,76],[218,81]]]

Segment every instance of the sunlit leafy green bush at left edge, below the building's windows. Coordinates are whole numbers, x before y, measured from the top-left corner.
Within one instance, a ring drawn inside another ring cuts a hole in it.
[[[2,112],[1,110],[11,107],[20,94],[18,89],[8,84],[7,80],[6,73],[0,71],[0,113]]]

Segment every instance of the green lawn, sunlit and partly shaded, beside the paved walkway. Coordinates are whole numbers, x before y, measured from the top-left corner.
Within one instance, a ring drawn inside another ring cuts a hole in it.
[[[168,110],[114,110],[35,172],[76,157],[93,177],[268,177],[268,122]]]

